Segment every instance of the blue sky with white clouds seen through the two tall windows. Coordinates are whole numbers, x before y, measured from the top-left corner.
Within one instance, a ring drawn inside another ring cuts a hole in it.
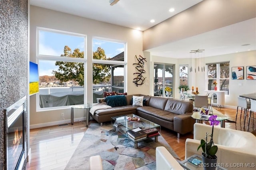
[[[75,35],[67,35],[62,33],[55,33],[50,31],[39,31],[39,54],[40,55],[53,55],[60,56],[64,54],[64,46],[68,45],[72,51],[78,48],[80,51],[84,51],[84,37],[78,37]],[[93,40],[93,51],[97,51],[97,48],[101,47],[105,51],[106,57],[114,57],[124,51],[124,44],[104,41],[101,39]],[[58,66],[55,66],[55,61],[40,61],[39,62],[39,76],[53,76],[52,70],[57,70]],[[118,71],[116,71],[118,72]],[[122,73],[121,73],[122,72]],[[123,70],[120,70],[119,74],[123,75]]]

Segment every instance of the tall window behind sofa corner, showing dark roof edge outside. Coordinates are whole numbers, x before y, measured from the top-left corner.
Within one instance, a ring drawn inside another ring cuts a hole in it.
[[[93,102],[104,92],[126,92],[126,43],[109,39],[93,39]]]

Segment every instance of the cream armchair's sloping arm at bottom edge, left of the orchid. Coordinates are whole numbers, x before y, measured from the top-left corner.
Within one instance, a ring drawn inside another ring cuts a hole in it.
[[[165,147],[156,147],[156,170],[182,170],[182,166]]]

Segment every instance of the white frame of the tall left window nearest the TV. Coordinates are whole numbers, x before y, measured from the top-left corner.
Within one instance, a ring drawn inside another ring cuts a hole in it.
[[[84,37],[84,58],[70,58],[70,57],[60,57],[60,56],[53,56],[53,55],[40,55],[39,54],[39,31],[49,31],[54,33],[62,33],[66,35],[73,35],[78,37]],[[49,29],[44,27],[36,27],[36,63],[39,64],[39,61],[64,61],[64,62],[75,62],[75,63],[84,63],[84,103],[87,103],[87,35],[80,34],[80,33],[72,33],[68,31],[61,31],[56,29]],[[39,65],[38,65],[39,67]],[[50,111],[50,110],[58,110],[58,109],[67,109],[70,108],[70,106],[58,106],[58,107],[45,107],[41,108],[39,106],[39,93],[36,94],[36,111]]]

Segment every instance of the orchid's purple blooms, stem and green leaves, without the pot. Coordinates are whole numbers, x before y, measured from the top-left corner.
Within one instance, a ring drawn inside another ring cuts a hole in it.
[[[208,133],[206,133],[206,137],[205,140],[201,139],[201,144],[199,145],[197,151],[202,147],[203,150],[203,156],[205,156],[206,158],[209,159],[216,159],[215,154],[217,153],[218,147],[216,145],[214,145],[213,143],[213,129],[214,129],[214,125],[218,125],[220,122],[216,120],[217,115],[212,115],[209,117],[209,121],[210,121],[210,125],[212,126],[212,134],[208,135]],[[211,139],[208,142],[207,141],[207,137],[210,136]]]

